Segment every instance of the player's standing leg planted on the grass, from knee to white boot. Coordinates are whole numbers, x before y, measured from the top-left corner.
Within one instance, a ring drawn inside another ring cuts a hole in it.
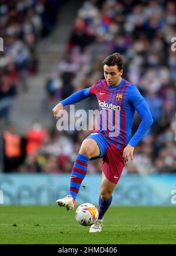
[[[103,217],[107,209],[110,207],[112,201],[112,193],[116,184],[109,181],[104,173],[102,172],[102,180],[100,186],[100,197],[99,197],[99,218],[95,224],[90,227],[90,233],[101,232],[103,226]]]

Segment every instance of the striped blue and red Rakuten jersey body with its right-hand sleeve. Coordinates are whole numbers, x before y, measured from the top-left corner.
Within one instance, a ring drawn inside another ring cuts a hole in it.
[[[107,85],[105,79],[100,79],[92,87],[86,89],[84,95],[96,95],[99,102],[99,127],[97,130],[111,144],[121,149],[127,144],[136,146],[148,128],[153,123],[150,110],[135,85],[121,79],[116,87]],[[134,113],[137,110],[141,124],[131,138],[131,127]]]

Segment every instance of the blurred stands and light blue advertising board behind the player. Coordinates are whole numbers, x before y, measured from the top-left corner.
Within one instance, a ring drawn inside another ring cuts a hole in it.
[[[114,203],[171,204],[176,186],[175,1],[1,0],[0,36],[5,203],[48,204],[66,195],[75,157],[91,131],[58,132],[52,109],[103,78],[102,61],[119,52],[125,58],[123,78],[144,95],[154,123],[126,164]],[[75,109],[97,109],[97,100],[90,97]],[[139,123],[136,114],[133,134]],[[89,162],[80,202],[93,203],[98,196],[101,161]]]

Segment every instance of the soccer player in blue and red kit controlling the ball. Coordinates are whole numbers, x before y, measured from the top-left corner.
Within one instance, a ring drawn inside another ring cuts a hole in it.
[[[123,64],[123,56],[119,53],[107,56],[103,61],[105,79],[100,79],[93,86],[74,93],[53,108],[53,114],[58,119],[60,110],[66,105],[94,95],[99,102],[99,129],[84,139],[73,165],[69,194],[56,201],[59,206],[73,210],[77,193],[87,173],[89,160],[103,157],[99,219],[90,227],[90,233],[101,231],[104,214],[111,204],[112,193],[120,179],[124,163],[130,158],[133,160],[134,147],[153,123],[150,110],[137,87],[121,78]],[[140,116],[141,123],[131,137],[135,110]]]

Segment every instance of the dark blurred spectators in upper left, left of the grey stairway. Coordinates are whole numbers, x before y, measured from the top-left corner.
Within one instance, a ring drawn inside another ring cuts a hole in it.
[[[26,76],[37,72],[36,43],[49,35],[56,22],[59,1],[2,0],[0,3],[0,118],[8,120],[12,101],[26,91]]]

